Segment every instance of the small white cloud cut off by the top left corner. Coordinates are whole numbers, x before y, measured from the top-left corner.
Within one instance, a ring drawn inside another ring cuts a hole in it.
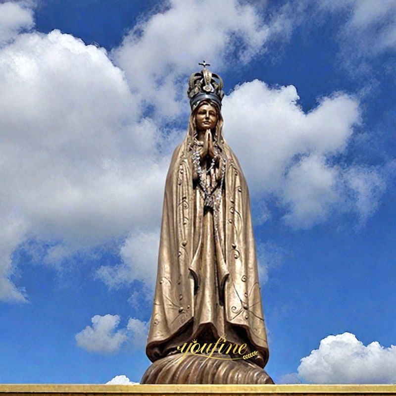
[[[24,7],[22,2],[0,4],[0,46],[14,39],[20,31],[33,26],[33,11]]]

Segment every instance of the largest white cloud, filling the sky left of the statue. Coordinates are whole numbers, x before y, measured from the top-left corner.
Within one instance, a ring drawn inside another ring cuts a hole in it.
[[[61,240],[46,262],[159,223],[167,158],[106,52],[53,31],[0,49],[1,300],[25,238]],[[166,163],[166,165],[164,165]]]

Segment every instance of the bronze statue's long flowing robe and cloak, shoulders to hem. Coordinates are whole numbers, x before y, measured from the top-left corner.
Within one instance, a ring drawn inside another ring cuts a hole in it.
[[[245,177],[222,141],[224,181],[213,193],[219,204],[204,208],[192,154],[187,136],[166,178],[147,355],[155,361],[193,339],[202,345],[226,334],[227,345],[257,350],[251,361],[264,367],[268,345]]]

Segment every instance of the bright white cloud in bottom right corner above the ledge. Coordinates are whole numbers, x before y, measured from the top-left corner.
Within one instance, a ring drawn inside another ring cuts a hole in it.
[[[301,359],[296,378],[314,384],[394,384],[396,347],[382,347],[377,341],[364,346],[351,333],[324,338],[318,349]]]

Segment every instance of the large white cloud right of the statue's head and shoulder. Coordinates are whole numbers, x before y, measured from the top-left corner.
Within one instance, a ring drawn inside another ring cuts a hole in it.
[[[253,198],[277,197],[286,208],[285,221],[296,228],[318,224],[334,210],[367,218],[384,190],[380,172],[333,160],[360,123],[357,99],[336,93],[308,113],[298,99],[293,86],[270,88],[258,80],[224,99],[225,136]]]

